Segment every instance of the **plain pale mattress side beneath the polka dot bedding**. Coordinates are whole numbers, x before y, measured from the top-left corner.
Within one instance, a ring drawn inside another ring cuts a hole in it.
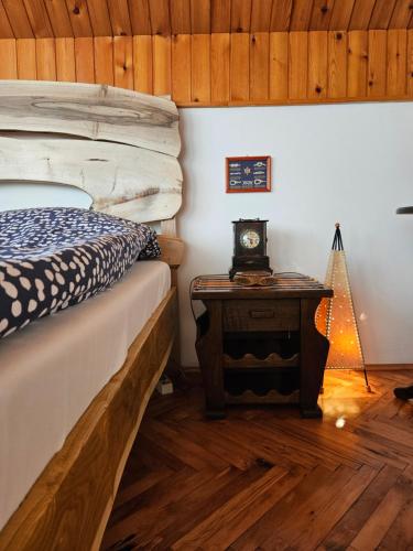
[[[0,342],[0,529],[167,294],[159,260]]]

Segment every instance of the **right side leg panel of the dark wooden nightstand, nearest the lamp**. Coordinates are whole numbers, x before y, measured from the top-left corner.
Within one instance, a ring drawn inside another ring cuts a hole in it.
[[[307,419],[323,417],[317,401],[329,343],[315,326],[315,312],[319,302],[319,299],[303,299],[301,301],[300,408],[302,417]]]

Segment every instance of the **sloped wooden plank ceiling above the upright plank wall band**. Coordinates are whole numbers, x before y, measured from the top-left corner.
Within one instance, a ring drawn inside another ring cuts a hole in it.
[[[0,0],[0,39],[413,28],[413,0]]]

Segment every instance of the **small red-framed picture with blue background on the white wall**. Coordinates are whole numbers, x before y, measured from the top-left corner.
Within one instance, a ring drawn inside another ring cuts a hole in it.
[[[271,192],[271,156],[227,156],[227,193]]]

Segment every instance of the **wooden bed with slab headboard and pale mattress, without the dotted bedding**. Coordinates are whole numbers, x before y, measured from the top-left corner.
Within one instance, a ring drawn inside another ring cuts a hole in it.
[[[109,291],[0,341],[0,549],[98,549],[145,406],[176,347],[176,108],[110,87],[0,83],[0,150],[9,151],[1,179],[75,185],[96,210],[163,220],[160,259],[138,261]],[[58,128],[74,136],[56,137]],[[116,155],[101,149],[111,140]],[[22,154],[32,171],[21,169]]]

